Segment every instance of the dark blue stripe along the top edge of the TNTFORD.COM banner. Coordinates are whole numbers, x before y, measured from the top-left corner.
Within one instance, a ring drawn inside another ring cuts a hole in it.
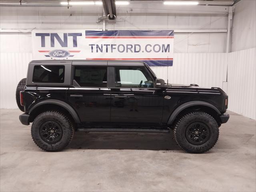
[[[173,30],[85,31],[85,36],[174,36]]]

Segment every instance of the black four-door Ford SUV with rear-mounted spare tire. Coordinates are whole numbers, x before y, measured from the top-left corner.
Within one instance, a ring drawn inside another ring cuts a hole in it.
[[[118,60],[35,60],[16,91],[38,147],[65,148],[74,131],[170,133],[187,152],[216,144],[228,121],[220,88],[165,84],[147,64]]]

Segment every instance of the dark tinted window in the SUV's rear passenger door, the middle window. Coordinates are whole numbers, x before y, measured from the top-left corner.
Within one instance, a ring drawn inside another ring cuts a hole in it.
[[[107,67],[77,66],[74,69],[74,80],[81,87],[106,87]]]

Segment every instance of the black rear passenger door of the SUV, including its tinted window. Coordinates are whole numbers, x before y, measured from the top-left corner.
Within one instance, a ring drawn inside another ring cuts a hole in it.
[[[83,123],[110,122],[110,88],[107,66],[73,66],[73,86],[67,98]]]

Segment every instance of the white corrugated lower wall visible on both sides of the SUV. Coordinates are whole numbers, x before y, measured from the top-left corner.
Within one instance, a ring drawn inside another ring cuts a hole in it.
[[[232,53],[175,53],[172,67],[152,67],[159,78],[177,84],[223,88],[229,96],[228,109],[256,119],[256,48]],[[26,77],[31,53],[1,53],[0,108],[17,108],[16,86]],[[227,78],[228,90],[223,86]]]

